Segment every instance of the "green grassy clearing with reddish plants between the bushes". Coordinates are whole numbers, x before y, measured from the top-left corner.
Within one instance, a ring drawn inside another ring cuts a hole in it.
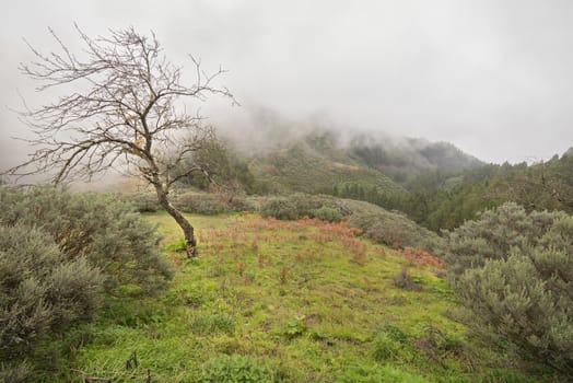
[[[167,214],[145,217],[176,265],[171,288],[109,299],[95,324],[61,339],[66,358],[47,381],[528,381],[449,318],[454,297],[435,270],[344,223],[189,216],[200,246],[190,260],[166,249],[179,237]],[[404,267],[420,291],[394,286]]]

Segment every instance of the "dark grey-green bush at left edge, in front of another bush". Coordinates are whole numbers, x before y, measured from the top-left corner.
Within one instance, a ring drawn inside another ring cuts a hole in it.
[[[45,232],[0,225],[0,359],[28,356],[47,336],[90,320],[103,281],[84,257],[66,259]]]

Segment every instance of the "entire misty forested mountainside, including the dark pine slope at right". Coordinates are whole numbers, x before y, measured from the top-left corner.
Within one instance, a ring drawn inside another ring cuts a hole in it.
[[[436,232],[506,201],[528,211],[573,212],[573,150],[531,165],[486,164],[446,142],[365,134],[342,139],[326,129],[272,146],[232,153],[226,162],[243,165],[237,174],[229,172],[229,164],[222,173],[247,183],[249,194],[301,192],[365,200],[401,210]]]

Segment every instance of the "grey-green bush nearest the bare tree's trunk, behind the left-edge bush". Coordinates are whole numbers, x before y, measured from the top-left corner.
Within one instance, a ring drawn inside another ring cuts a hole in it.
[[[0,188],[0,223],[35,225],[51,235],[62,257],[85,257],[106,276],[107,290],[137,286],[153,292],[173,270],[157,252],[155,228],[128,204],[102,194],[54,187]]]

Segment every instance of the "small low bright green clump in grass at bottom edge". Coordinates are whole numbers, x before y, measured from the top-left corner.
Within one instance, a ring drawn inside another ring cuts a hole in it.
[[[233,355],[209,360],[202,367],[199,382],[280,382],[278,371],[250,357]]]

